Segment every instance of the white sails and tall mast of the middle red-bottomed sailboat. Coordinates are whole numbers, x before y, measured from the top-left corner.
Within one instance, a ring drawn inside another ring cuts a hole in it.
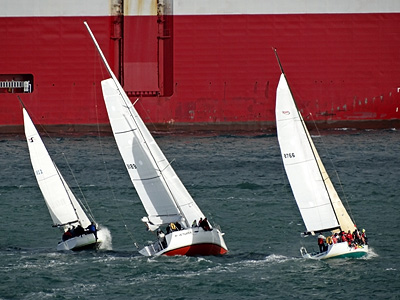
[[[118,149],[148,214],[145,220],[149,228],[176,221],[189,227],[194,220],[204,218],[203,213],[124,92],[86,22],[85,25],[111,76],[101,82],[104,101]]]

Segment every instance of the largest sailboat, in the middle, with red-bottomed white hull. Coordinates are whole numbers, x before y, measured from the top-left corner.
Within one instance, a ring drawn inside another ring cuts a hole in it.
[[[144,256],[227,253],[223,233],[208,223],[176,175],[112,72],[89,25],[84,24],[111,76],[101,82],[104,101],[118,149],[147,213],[142,221],[148,230],[157,233],[157,240],[139,253]]]

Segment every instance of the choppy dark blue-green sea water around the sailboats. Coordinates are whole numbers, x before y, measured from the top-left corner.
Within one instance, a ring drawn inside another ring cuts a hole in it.
[[[327,261],[300,257],[299,248],[317,249],[316,240],[300,237],[304,225],[274,134],[156,140],[201,210],[225,232],[229,253],[140,256],[134,243],[154,237],[140,221],[144,209],[111,136],[44,138],[111,237],[106,249],[57,252],[60,233],[51,227],[26,141],[3,136],[0,299],[400,299],[398,131],[314,133],[370,243],[366,258]]]

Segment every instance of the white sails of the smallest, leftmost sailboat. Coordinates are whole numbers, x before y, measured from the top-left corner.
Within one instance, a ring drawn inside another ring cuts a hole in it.
[[[54,225],[79,222],[86,228],[90,224],[89,218],[51,160],[25,108],[23,108],[23,115],[32,167]]]

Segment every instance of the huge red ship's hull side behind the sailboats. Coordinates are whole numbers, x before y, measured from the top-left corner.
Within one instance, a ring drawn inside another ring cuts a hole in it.
[[[400,119],[397,12],[1,17],[0,81],[30,74],[32,92],[19,95],[50,130],[108,124],[107,73],[84,20],[158,129],[273,127],[280,70],[272,47],[306,121],[361,128]],[[0,89],[2,132],[22,130],[12,92]]]

